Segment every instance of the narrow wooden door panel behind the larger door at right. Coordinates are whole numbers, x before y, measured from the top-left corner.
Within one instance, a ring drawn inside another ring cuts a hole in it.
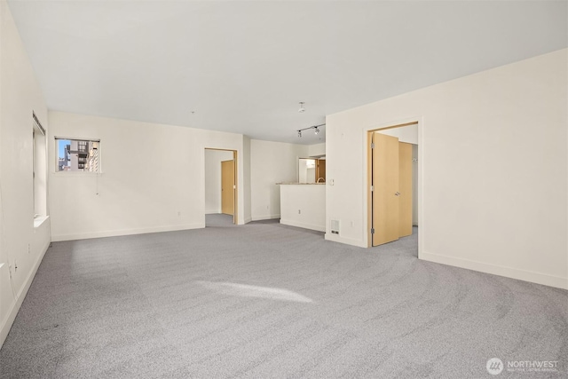
[[[412,234],[412,145],[398,142],[399,237]]]

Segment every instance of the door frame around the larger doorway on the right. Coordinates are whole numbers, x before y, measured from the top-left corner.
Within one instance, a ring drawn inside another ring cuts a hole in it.
[[[374,127],[370,127],[368,129],[365,129],[366,133],[364,134],[364,139],[365,139],[365,149],[364,152],[366,154],[366,158],[365,158],[365,163],[367,165],[366,168],[366,175],[364,178],[364,182],[365,182],[365,186],[364,188],[364,192],[365,195],[367,196],[365,199],[367,200],[367,205],[366,205],[366,211],[367,211],[367,225],[365,226],[365,231],[367,233],[367,248],[371,248],[373,247],[373,234],[371,233],[371,227],[373,225],[373,201],[372,201],[372,196],[373,194],[371,193],[371,183],[372,183],[372,177],[373,177],[373,162],[372,162],[372,149],[371,149],[371,141],[372,141],[372,136],[373,133],[375,131],[380,131],[380,130],[389,130],[389,129],[395,129],[395,128],[403,128],[405,126],[411,126],[411,125],[417,125],[418,127],[418,172],[417,172],[417,176],[418,176],[418,183],[416,185],[417,191],[418,191],[418,204],[417,204],[417,209],[418,209],[418,226],[419,226],[419,230],[418,230],[418,257],[420,258],[422,255],[422,252],[424,251],[423,246],[424,246],[424,188],[423,188],[423,167],[424,167],[424,130],[423,130],[423,121],[422,118],[410,118],[404,121],[399,121],[399,122],[388,122],[388,123],[383,123],[381,125],[376,125]]]

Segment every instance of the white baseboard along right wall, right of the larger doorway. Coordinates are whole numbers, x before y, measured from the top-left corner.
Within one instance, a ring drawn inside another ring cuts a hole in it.
[[[420,259],[429,262],[435,262],[442,265],[452,265],[468,270],[491,273],[493,275],[504,276],[507,278],[530,281],[545,286],[568,289],[568,278],[560,276],[548,275],[542,272],[531,272],[520,270],[514,267],[501,265],[491,265],[484,262],[471,261],[469,259],[440,256],[428,252],[422,252]]]

